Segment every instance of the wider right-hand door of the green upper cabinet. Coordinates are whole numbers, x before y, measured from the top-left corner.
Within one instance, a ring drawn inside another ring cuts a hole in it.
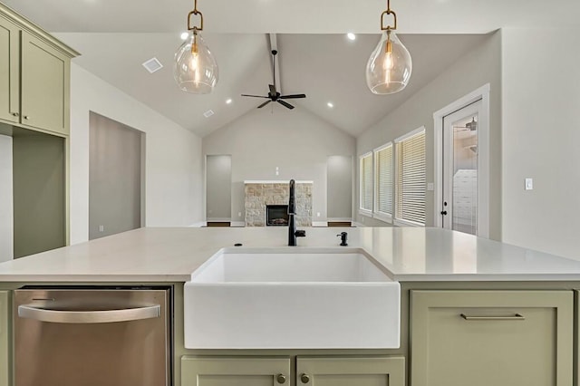
[[[22,33],[21,122],[68,135],[70,60],[43,40]]]

